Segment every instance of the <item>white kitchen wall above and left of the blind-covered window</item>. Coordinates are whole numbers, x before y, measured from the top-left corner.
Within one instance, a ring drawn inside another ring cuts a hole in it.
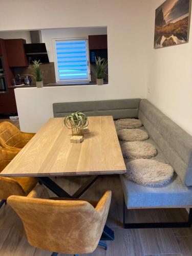
[[[52,39],[88,37],[89,35],[107,34],[106,27],[103,28],[62,28],[41,30],[42,42],[45,42],[49,61],[54,62]]]

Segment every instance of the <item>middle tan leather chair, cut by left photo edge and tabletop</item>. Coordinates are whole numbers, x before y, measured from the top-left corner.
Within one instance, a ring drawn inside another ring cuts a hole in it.
[[[0,146],[0,173],[18,153],[19,150],[8,150]],[[9,196],[27,196],[36,184],[36,178],[0,177],[0,208]]]

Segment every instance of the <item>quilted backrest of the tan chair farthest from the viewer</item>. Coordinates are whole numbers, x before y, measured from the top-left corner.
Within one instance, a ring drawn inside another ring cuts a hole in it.
[[[0,145],[19,147],[20,131],[10,122],[0,122]]]

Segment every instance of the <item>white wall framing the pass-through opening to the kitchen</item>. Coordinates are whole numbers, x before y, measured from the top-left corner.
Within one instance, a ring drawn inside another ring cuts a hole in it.
[[[38,8],[36,6],[38,5]],[[149,7],[144,0],[1,0],[1,30],[108,28],[109,86],[15,89],[20,127],[35,132],[53,115],[52,103],[144,98]],[[26,18],[19,13],[32,13]],[[7,17],[11,17],[7,19]],[[27,117],[27,118],[26,118]]]

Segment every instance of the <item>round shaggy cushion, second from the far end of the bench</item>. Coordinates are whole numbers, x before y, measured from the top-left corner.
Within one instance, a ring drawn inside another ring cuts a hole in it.
[[[125,141],[142,141],[148,139],[148,134],[140,129],[122,129],[117,131],[118,138]]]

